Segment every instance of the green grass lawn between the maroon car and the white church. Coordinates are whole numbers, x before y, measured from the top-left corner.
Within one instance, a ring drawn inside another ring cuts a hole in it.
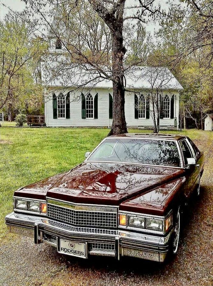
[[[108,132],[108,129],[90,128],[15,128],[7,124],[0,128],[0,243],[7,234],[4,217],[13,210],[14,191],[71,169],[82,162],[85,152],[93,150]],[[192,139],[200,137],[197,130],[179,133]]]

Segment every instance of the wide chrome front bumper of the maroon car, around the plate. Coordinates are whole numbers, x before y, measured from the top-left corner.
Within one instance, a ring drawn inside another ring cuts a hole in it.
[[[35,244],[47,243],[59,251],[59,240],[83,242],[89,255],[132,256],[163,262],[169,250],[172,231],[167,236],[154,236],[126,230],[74,227],[56,220],[28,214],[5,217],[8,229],[15,234],[34,237]]]

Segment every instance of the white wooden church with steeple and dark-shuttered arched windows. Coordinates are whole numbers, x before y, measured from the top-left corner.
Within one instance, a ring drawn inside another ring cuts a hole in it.
[[[60,26],[56,23],[59,19],[59,9],[56,8],[53,28]],[[112,82],[97,79],[98,72],[77,64],[52,76],[49,71],[57,68],[57,57],[61,58],[64,51],[60,39],[49,33],[49,52],[55,57],[41,63],[46,126],[110,128],[113,120]],[[132,66],[125,72],[125,87],[127,127],[153,126],[151,96],[157,90],[161,91],[160,128],[178,127],[179,96],[183,88],[167,68]]]

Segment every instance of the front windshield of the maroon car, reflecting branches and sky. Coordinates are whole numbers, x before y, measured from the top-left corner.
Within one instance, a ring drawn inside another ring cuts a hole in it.
[[[180,167],[176,142],[167,140],[108,138],[88,160]]]

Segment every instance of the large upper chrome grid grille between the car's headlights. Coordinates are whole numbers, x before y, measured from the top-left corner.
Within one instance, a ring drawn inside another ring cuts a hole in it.
[[[47,204],[47,216],[78,226],[117,227],[117,212],[74,210]]]

